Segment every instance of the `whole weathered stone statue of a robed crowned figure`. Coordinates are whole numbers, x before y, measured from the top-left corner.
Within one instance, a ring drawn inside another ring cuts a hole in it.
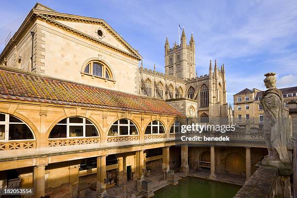
[[[288,114],[284,109],[281,91],[276,88],[275,73],[264,76],[266,91],[263,92],[264,139],[270,160],[290,163],[287,151]]]

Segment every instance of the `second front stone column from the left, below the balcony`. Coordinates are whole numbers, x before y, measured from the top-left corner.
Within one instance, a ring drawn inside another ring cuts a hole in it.
[[[106,184],[106,157],[103,155],[97,157],[97,196],[103,198],[107,193],[105,190]]]

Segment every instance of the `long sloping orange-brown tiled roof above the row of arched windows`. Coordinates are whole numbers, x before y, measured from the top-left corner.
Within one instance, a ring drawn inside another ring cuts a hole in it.
[[[183,115],[164,100],[0,69],[0,99],[161,115]]]

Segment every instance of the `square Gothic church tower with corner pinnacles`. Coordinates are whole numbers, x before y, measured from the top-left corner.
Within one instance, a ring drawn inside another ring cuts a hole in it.
[[[184,80],[195,78],[195,41],[193,33],[191,34],[190,43],[188,45],[184,29],[182,29],[181,44],[177,45],[175,42],[173,48],[169,47],[168,38],[166,37],[165,74]]]

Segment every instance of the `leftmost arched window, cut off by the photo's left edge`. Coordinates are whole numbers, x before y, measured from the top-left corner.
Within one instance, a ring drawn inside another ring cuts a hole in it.
[[[13,115],[0,114],[0,141],[34,140],[29,126]]]

